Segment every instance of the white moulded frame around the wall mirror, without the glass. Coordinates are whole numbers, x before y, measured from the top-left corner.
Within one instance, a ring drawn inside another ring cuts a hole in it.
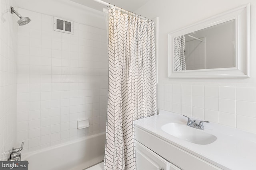
[[[236,67],[174,71],[174,38],[226,21],[236,22]],[[229,10],[168,34],[169,78],[246,78],[250,77],[250,4]]]

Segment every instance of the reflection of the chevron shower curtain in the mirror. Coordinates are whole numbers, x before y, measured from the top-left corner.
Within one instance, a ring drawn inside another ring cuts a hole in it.
[[[174,38],[174,70],[186,70],[184,35]]]

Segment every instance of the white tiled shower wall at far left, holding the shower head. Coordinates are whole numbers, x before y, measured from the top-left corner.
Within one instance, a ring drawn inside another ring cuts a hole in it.
[[[17,25],[13,0],[0,1],[0,160],[16,145]]]

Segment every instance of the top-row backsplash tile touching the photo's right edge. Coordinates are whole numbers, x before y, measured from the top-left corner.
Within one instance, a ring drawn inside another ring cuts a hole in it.
[[[256,88],[236,87],[236,100],[256,102]]]

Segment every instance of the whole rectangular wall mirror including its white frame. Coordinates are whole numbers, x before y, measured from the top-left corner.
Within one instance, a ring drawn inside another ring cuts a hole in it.
[[[250,4],[168,34],[169,78],[250,77]]]

